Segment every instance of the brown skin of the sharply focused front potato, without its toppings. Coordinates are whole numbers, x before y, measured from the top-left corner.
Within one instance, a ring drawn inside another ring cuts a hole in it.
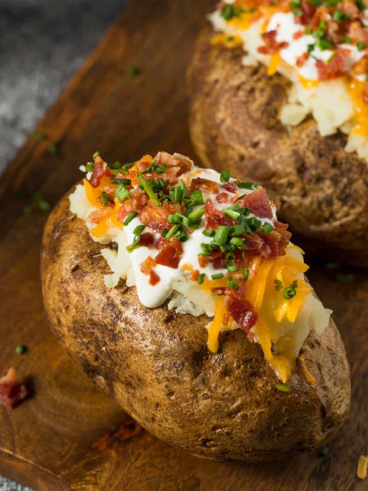
[[[144,428],[201,457],[264,461],[314,449],[342,426],[350,406],[349,366],[331,320],[302,352],[316,390],[299,373],[289,393],[259,344],[237,329],[207,349],[206,316],[147,309],[136,288],[110,273],[64,196],[47,220],[41,257],[45,309],[70,356]]]

